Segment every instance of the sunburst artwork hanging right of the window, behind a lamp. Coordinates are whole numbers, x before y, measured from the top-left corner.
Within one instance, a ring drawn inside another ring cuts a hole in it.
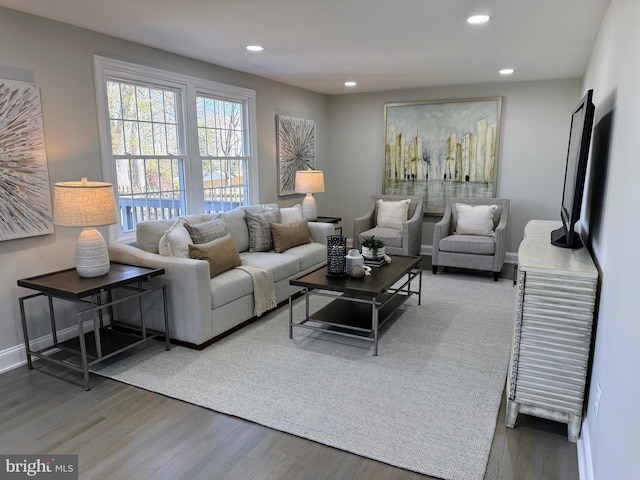
[[[292,195],[296,193],[296,171],[316,167],[316,122],[276,115],[276,143],[278,195]]]

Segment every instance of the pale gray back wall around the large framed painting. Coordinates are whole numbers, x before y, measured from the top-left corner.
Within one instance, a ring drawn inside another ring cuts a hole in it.
[[[571,111],[581,92],[581,80],[574,79],[332,96],[328,213],[342,216],[351,236],[352,220],[366,211],[371,195],[381,193],[385,103],[502,96],[496,191],[511,200],[507,252],[517,252],[527,221],[560,219]],[[431,245],[438,220],[425,217],[423,246]]]

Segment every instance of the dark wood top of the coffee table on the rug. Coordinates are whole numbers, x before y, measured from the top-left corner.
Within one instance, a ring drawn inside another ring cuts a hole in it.
[[[418,268],[420,257],[390,255],[391,263],[372,267],[371,275],[363,278],[327,277],[327,267],[290,280],[291,285],[309,289],[330,290],[358,297],[379,297],[400,280],[409,270]]]

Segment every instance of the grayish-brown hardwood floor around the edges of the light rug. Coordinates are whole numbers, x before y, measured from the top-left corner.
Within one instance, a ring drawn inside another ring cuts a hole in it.
[[[0,375],[0,452],[78,454],[80,479],[429,479],[239,418],[56,365]],[[578,478],[566,425],[504,402],[485,480]]]

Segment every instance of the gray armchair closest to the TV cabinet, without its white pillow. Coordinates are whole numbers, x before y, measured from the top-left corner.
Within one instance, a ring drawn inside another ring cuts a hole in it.
[[[456,203],[466,205],[498,205],[493,216],[495,236],[456,235],[458,212]],[[493,272],[498,280],[506,253],[509,200],[501,198],[452,198],[447,201],[442,220],[433,228],[433,273],[438,267],[469,268]]]

